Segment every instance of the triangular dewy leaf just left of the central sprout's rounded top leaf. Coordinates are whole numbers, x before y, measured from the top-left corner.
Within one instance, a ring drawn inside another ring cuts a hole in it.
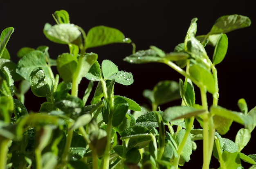
[[[95,61],[89,72],[86,73],[85,78],[90,81],[99,81],[100,79],[102,79],[101,66],[99,65],[98,61]]]

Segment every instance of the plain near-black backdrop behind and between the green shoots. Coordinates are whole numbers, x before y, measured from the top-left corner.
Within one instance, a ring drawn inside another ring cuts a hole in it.
[[[249,110],[256,106],[255,94],[255,30],[256,16],[253,1],[231,0],[20,0],[0,1],[0,31],[13,26],[14,33],[7,44],[11,59],[17,63],[16,53],[21,47],[36,48],[40,45],[49,46],[52,58],[68,51],[67,46],[54,44],[43,35],[45,23],[55,24],[52,13],[65,9],[70,14],[70,22],[81,26],[88,32],[93,26],[104,25],[119,29],[136,44],[137,50],[146,50],[150,45],[157,46],[165,52],[172,52],[174,47],[184,42],[186,31],[192,18],[198,18],[197,35],[206,34],[217,18],[222,15],[240,14],[252,20],[250,27],[227,33],[229,48],[227,55],[216,66],[218,70],[220,99],[219,105],[229,110],[239,111],[237,101],[244,98]],[[111,44],[92,48],[88,52],[99,55],[98,61],[112,60],[119,70],[131,72],[134,83],[130,86],[115,85],[115,94],[129,97],[140,105],[148,104],[142,97],[144,89],[152,89],[161,80],[175,80],[183,78],[177,72],[164,64],[129,64],[123,61],[124,57],[132,53],[130,44]],[[213,52],[212,47],[207,47],[208,55]],[[85,90],[87,81],[80,85],[80,93]],[[40,104],[45,101],[36,98],[29,91],[25,105],[29,111],[38,111]],[[211,98],[209,98],[211,100]],[[200,102],[198,99],[197,102]],[[180,104],[180,101],[163,105],[167,108]],[[209,103],[211,105],[211,103]],[[234,140],[236,132],[241,125],[233,123],[231,131],[223,137]],[[252,132],[252,139],[243,153],[255,154],[256,132]],[[198,149],[191,156],[191,162],[183,168],[202,167],[202,146],[200,141]],[[245,168],[247,165],[243,165]],[[218,164],[212,164],[218,167]]]

